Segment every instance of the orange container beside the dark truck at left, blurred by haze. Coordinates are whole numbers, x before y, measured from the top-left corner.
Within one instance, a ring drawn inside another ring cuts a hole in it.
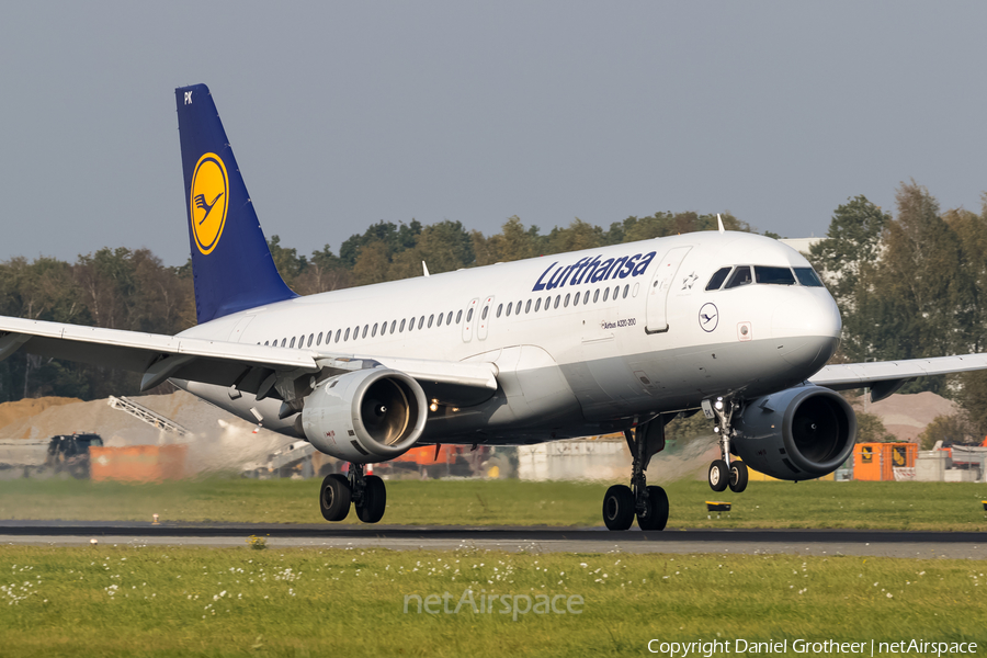
[[[186,445],[90,447],[90,478],[131,483],[181,479],[185,475],[186,452]]]

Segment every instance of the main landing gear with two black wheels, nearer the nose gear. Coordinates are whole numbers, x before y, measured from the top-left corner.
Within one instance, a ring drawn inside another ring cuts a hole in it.
[[[665,450],[665,421],[658,418],[624,431],[631,449],[631,486],[614,485],[603,497],[603,523],[608,530],[627,530],[637,517],[642,530],[665,530],[668,523],[668,495],[648,486],[645,470],[651,456]]]

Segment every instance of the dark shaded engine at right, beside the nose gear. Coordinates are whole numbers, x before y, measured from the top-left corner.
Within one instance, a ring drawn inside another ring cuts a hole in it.
[[[806,480],[840,467],[856,442],[856,415],[839,394],[798,386],[749,402],[734,420],[731,452],[755,470]]]

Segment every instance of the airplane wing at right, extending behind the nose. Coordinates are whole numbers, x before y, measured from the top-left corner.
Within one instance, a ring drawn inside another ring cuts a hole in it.
[[[906,382],[930,375],[949,375],[987,370],[987,354],[962,354],[905,361],[873,361],[827,365],[810,382],[833,390],[869,387],[871,401],[888,397]]]

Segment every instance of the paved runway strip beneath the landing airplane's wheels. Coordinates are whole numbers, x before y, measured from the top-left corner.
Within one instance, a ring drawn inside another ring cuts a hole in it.
[[[880,530],[683,530],[609,532],[603,527],[410,526],[336,524],[0,521],[0,544],[476,548],[527,553],[721,553],[862,555],[987,559],[987,533]]]

